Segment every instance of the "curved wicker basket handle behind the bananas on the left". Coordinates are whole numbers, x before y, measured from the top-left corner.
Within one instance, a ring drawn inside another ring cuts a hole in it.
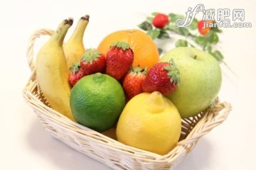
[[[31,35],[31,37],[28,40],[28,48],[27,48],[27,52],[26,52],[26,56],[27,56],[27,60],[28,60],[28,66],[31,69],[31,71],[33,72],[33,69],[35,69],[35,63],[33,60],[34,57],[34,44],[36,42],[36,38],[40,38],[41,35],[53,35],[53,30],[50,29],[40,29],[40,30],[36,30],[33,35]]]

